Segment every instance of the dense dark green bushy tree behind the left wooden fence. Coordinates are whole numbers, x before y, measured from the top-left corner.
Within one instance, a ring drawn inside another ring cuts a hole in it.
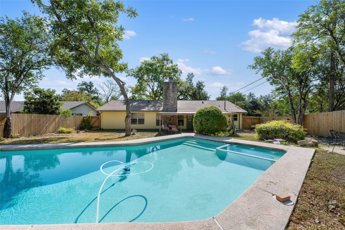
[[[32,114],[60,114],[62,102],[55,89],[34,88],[24,93],[23,113]]]

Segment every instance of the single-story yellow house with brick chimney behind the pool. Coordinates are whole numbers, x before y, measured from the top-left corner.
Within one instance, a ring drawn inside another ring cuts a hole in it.
[[[193,129],[196,111],[207,106],[219,108],[228,125],[242,128],[242,116],[247,111],[229,101],[177,100],[177,82],[163,82],[163,100],[131,100],[131,128],[159,129],[161,124],[176,125],[179,129]],[[125,129],[126,104],[112,100],[97,109],[101,113],[102,129]]]

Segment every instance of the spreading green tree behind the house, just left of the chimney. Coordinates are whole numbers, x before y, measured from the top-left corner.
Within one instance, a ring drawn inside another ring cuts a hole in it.
[[[142,61],[140,66],[127,71],[127,77],[134,77],[138,81],[135,86],[130,87],[131,99],[161,100],[163,82],[169,77],[179,82],[181,74],[182,71],[167,53]]]

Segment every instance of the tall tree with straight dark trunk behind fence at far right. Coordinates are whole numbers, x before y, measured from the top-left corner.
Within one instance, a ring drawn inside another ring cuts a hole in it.
[[[329,78],[329,108],[334,111],[335,59],[345,68],[345,1],[321,0],[299,15],[293,33],[294,43],[299,48],[312,51],[312,55],[328,53],[332,74]]]

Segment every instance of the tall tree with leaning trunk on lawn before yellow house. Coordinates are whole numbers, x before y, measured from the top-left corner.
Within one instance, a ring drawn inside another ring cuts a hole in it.
[[[128,68],[127,63],[120,62],[123,55],[117,41],[122,41],[125,28],[118,25],[118,18],[122,13],[136,17],[136,10],[112,0],[50,0],[48,5],[42,0],[32,1],[50,16],[55,43],[52,52],[69,78],[75,78],[74,73],[79,77],[103,75],[118,84],[126,103],[126,136],[130,136],[130,101],[125,82],[116,76]]]

